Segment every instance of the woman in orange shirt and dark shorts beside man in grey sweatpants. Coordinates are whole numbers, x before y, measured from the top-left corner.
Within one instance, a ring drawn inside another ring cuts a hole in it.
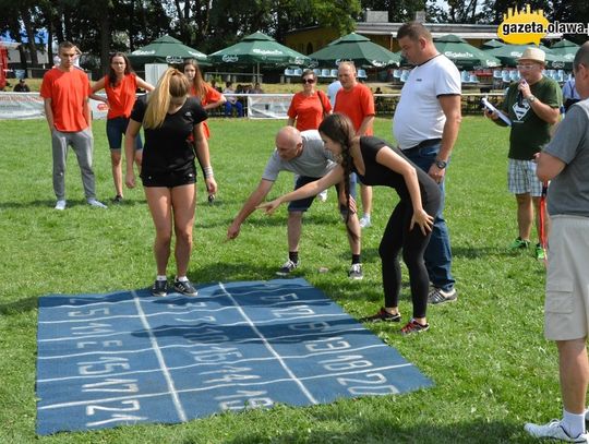
[[[123,200],[122,195],[122,169],[121,169],[121,145],[122,136],[127,132],[129,117],[135,105],[135,92],[137,87],[145,91],[154,91],[154,86],[139,77],[131,62],[122,52],[110,56],[110,69],[108,74],[100,79],[92,87],[95,100],[101,100],[108,105],[107,113],[107,137],[110,147],[110,165],[112,168],[112,180],[117,192],[112,202],[118,204]],[[95,93],[105,89],[107,98],[97,96]],[[135,164],[141,168],[141,156],[143,145],[141,137],[135,139]]]

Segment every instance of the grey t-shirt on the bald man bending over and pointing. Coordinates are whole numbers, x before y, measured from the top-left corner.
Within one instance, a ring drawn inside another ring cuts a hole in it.
[[[301,136],[303,141],[302,154],[291,160],[284,160],[278,155],[278,151],[275,149],[266,164],[262,179],[274,182],[280,171],[321,178],[335,168],[337,164],[330,159],[329,152],[324,148],[317,130],[302,131]]]

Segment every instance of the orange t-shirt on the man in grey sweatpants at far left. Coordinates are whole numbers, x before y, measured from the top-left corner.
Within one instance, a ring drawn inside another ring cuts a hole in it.
[[[53,124],[58,131],[77,132],[89,127],[83,106],[91,94],[88,76],[82,70],[52,68],[43,76],[40,96],[51,99]]]

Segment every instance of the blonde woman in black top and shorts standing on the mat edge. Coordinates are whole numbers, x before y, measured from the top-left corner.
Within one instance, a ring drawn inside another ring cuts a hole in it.
[[[127,177],[129,188],[135,187],[133,153],[135,137],[143,125],[145,146],[141,179],[154,225],[154,254],[157,277],[152,288],[154,296],[166,296],[166,268],[170,243],[176,232],[177,274],[173,289],[187,296],[196,290],[187,277],[192,251],[192,227],[196,206],[196,167],[194,155],[203,169],[209,193],[217,191],[208,156],[208,144],[203,132],[206,111],[200,101],[189,97],[190,82],[180,71],[167,70],[148,99],[135,101],[125,136]],[[190,141],[190,135],[193,141]]]

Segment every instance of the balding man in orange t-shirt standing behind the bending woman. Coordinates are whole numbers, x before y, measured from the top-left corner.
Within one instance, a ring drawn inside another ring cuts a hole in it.
[[[350,118],[356,135],[372,135],[374,122],[374,97],[368,86],[362,85],[356,77],[356,65],[352,62],[340,62],[337,76],[341,82],[341,89],[337,92],[334,112],[340,112]],[[351,175],[351,182],[356,183],[356,175]],[[372,187],[361,185],[363,215],[360,227],[371,226]]]

